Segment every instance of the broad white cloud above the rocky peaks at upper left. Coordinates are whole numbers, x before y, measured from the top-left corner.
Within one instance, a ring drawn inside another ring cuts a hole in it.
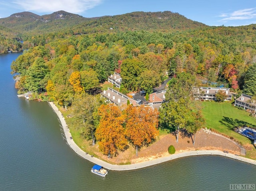
[[[25,11],[56,12],[64,10],[70,13],[81,13],[102,3],[102,0],[15,0]]]

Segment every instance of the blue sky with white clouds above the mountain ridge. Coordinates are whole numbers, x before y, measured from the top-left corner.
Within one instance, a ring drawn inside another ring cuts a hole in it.
[[[256,24],[256,0],[0,0],[0,18],[64,10],[92,18],[135,11],[171,11],[209,26]]]

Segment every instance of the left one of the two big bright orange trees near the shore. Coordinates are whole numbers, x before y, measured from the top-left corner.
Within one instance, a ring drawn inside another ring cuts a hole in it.
[[[114,104],[101,105],[98,114],[100,122],[95,137],[98,140],[99,149],[105,155],[116,156],[118,150],[123,151],[128,146],[123,127],[125,116]]]

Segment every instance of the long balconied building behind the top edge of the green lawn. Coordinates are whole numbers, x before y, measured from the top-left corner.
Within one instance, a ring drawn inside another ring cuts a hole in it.
[[[215,95],[218,91],[225,92],[226,98],[225,101],[231,101],[232,94],[230,93],[229,88],[220,88],[220,87],[193,87],[192,93],[193,97],[196,100],[215,100]]]

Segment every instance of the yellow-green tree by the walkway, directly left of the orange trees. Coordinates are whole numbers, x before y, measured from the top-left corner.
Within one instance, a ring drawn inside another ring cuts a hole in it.
[[[73,114],[77,119],[76,128],[80,130],[81,136],[92,140],[95,144],[95,130],[98,126],[98,108],[101,105],[99,96],[92,96],[86,93],[76,95],[72,102]]]

